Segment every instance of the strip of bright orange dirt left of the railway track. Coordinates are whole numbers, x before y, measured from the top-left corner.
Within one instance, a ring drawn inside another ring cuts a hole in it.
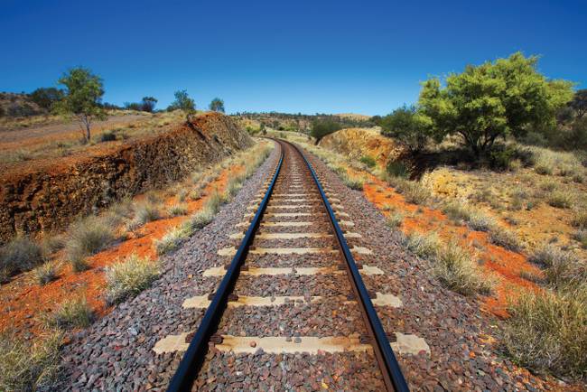
[[[240,173],[243,170],[243,166],[233,166],[223,170],[219,178],[210,182],[204,190],[206,196],[198,201],[185,202],[188,215],[200,210],[211,191],[215,189],[220,192],[224,191],[230,174]],[[135,200],[140,200],[142,197],[143,195],[139,195]],[[175,202],[176,198],[172,196],[167,198],[163,204],[170,206]],[[124,260],[132,253],[136,253],[139,257],[155,259],[157,255],[154,241],[163,238],[168,229],[181,224],[188,215],[146,223],[130,238],[89,257],[91,267],[87,271],[75,273],[69,265],[65,264],[61,267],[57,280],[47,285],[38,285],[34,281],[33,272],[28,272],[17,276],[12,282],[0,286],[0,308],[2,308],[0,311],[2,313],[0,331],[12,329],[19,334],[26,332],[40,334],[44,328],[40,316],[44,313],[50,313],[60,303],[76,295],[86,296],[89,306],[97,317],[109,313],[112,307],[107,306],[104,298],[106,287],[104,268],[116,261]],[[62,255],[58,254],[55,259],[61,257]]]

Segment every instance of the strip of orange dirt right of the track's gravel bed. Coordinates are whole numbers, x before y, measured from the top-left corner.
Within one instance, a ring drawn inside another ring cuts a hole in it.
[[[435,231],[444,240],[456,239],[462,246],[471,250],[471,257],[477,257],[483,268],[497,277],[495,294],[483,297],[482,311],[501,318],[508,317],[508,300],[515,298],[520,290],[539,290],[535,283],[520,276],[524,273],[537,276],[542,274],[538,267],[527,261],[526,256],[491,244],[487,233],[455,225],[439,210],[406,202],[404,197],[388,187],[386,182],[378,180],[373,175],[368,176],[370,182],[365,183],[363,192],[377,209],[386,216],[391,211],[384,210],[384,206],[390,206],[404,214],[412,214],[405,216],[403,221],[402,230],[405,234]]]

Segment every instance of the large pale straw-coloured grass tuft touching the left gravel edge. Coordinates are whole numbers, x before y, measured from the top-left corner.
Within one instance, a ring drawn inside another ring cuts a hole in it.
[[[120,303],[134,297],[151,285],[159,276],[159,263],[148,257],[132,254],[125,261],[106,269],[106,294],[108,303]]]

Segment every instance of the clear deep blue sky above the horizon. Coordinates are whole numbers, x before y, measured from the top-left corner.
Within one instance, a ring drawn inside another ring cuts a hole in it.
[[[0,90],[54,86],[76,65],[108,102],[166,107],[187,89],[228,112],[386,114],[419,82],[514,51],[587,87],[587,1],[2,0]]]

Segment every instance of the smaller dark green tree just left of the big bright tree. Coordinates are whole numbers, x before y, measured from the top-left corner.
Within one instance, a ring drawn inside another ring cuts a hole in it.
[[[430,117],[423,116],[415,106],[399,107],[386,117],[377,119],[383,135],[393,137],[416,154],[424,150],[433,134]]]

